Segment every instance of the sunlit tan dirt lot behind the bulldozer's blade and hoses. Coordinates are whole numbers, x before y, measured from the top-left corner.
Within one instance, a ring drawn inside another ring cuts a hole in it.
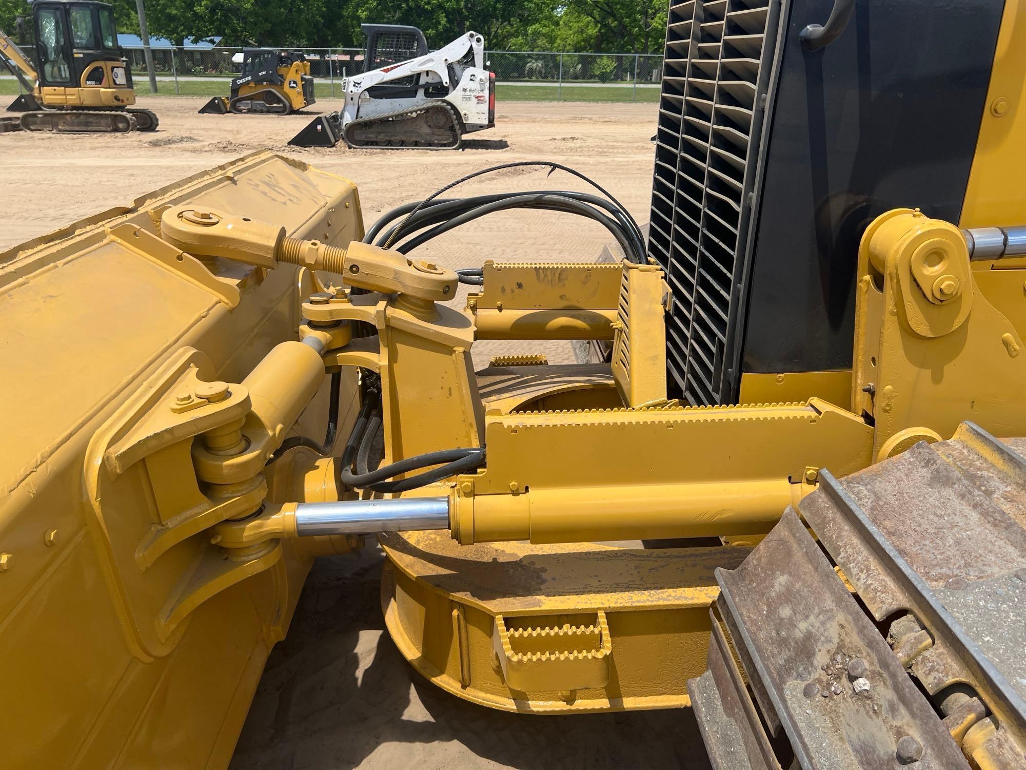
[[[289,116],[198,115],[204,99],[141,98],[156,112],[156,132],[110,134],[3,134],[4,217],[0,251],[82,217],[254,150],[291,155],[355,182],[369,226],[394,206],[418,200],[472,171],[524,160],[555,160],[587,175],[613,193],[641,224],[647,222],[655,131],[654,104],[508,103],[497,108],[497,127],[470,134],[459,152],[289,147],[317,113]],[[341,102],[318,102],[338,110]],[[453,195],[538,189],[586,190],[587,185],[547,168],[511,168],[460,185]],[[505,262],[588,261],[609,240],[598,224],[564,214],[491,215],[417,251],[448,267]],[[465,291],[457,297],[463,302]],[[475,346],[478,365],[497,351]],[[565,343],[503,343],[502,352],[544,352],[567,360]]]

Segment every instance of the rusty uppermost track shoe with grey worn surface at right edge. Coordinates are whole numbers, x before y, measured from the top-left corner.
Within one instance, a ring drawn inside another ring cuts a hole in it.
[[[802,515],[882,620],[910,611],[931,649],[912,671],[931,693],[969,683],[1026,745],[1026,460],[964,423],[841,480],[822,473]],[[1020,749],[1021,750],[1021,749]],[[1015,766],[1015,765],[1013,765]]]

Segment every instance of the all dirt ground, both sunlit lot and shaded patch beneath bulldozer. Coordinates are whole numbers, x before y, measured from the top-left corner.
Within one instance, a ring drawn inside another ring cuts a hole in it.
[[[656,105],[500,104],[498,127],[460,152],[299,149],[288,140],[312,114],[197,115],[202,99],[141,99],[161,119],[155,133],[0,138],[4,216],[0,251],[76,219],[270,148],[348,177],[364,221],[425,197],[488,165],[554,160],[588,175],[647,221]],[[336,103],[322,109],[340,109]],[[515,168],[453,194],[586,187],[562,172]],[[449,267],[497,261],[590,261],[609,235],[589,220],[503,213],[457,229],[417,254]],[[463,302],[463,296],[457,298]],[[475,345],[483,365],[499,352],[568,360],[566,343]],[[464,702],[423,681],[384,630],[382,555],[321,560],[288,638],[271,655],[233,768],[707,767],[689,709],[576,717],[520,716]]]

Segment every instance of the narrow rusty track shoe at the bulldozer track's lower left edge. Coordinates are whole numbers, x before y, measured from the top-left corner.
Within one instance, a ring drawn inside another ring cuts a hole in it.
[[[710,616],[709,667],[687,682],[709,760],[716,770],[780,770],[726,637]]]

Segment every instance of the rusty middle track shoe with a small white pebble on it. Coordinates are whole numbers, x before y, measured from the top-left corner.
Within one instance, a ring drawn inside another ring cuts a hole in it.
[[[734,571],[717,570],[734,642],[758,679],[803,768],[969,767],[879,631],[792,509]],[[868,688],[849,678],[865,663]]]

